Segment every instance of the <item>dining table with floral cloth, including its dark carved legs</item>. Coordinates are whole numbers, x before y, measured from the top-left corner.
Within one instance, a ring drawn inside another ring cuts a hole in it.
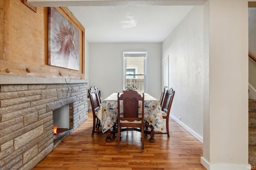
[[[122,93],[119,93],[121,95]],[[102,133],[107,133],[106,141],[112,141],[110,137],[113,134],[113,138],[116,137],[117,133],[116,121],[118,118],[118,93],[112,93],[108,96],[101,104],[100,108],[96,112],[96,116],[100,120],[102,127]],[[142,95],[142,94],[141,94]],[[120,101],[122,102],[122,101]],[[139,103],[142,105],[142,102]],[[139,113],[142,113],[142,107],[139,109]],[[122,104],[120,103],[120,111],[122,112]],[[154,142],[154,129],[163,132],[164,131],[164,122],[162,117],[162,111],[159,100],[150,96],[147,93],[144,93],[144,119],[145,119],[145,129],[144,133],[147,137],[147,134],[150,134],[150,142]],[[148,128],[151,130],[148,131]]]

